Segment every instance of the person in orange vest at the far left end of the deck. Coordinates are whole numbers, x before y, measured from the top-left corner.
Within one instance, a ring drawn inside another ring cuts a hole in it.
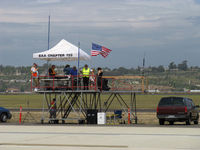
[[[34,91],[37,91],[39,88],[39,73],[38,73],[38,66],[36,63],[33,63],[33,66],[31,67],[31,76],[35,83]]]

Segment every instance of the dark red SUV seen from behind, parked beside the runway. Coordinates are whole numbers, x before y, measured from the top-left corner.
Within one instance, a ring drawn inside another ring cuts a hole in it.
[[[192,99],[185,97],[163,97],[157,107],[157,118],[159,124],[164,125],[165,121],[174,124],[175,121],[186,122],[190,125],[199,122],[199,106],[195,106]]]

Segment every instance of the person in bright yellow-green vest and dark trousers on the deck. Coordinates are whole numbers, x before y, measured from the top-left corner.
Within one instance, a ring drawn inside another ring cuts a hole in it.
[[[84,90],[88,90],[89,89],[88,86],[89,86],[90,68],[88,67],[87,64],[83,67],[82,74],[83,74],[83,87],[84,87]]]

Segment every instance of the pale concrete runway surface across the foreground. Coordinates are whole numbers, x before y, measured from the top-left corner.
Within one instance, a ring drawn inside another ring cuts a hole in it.
[[[0,125],[0,150],[199,150],[200,128]]]

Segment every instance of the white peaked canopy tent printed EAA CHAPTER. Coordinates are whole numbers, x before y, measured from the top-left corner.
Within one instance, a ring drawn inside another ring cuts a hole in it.
[[[49,50],[33,53],[33,58],[47,61],[90,60],[86,52],[64,39]]]

